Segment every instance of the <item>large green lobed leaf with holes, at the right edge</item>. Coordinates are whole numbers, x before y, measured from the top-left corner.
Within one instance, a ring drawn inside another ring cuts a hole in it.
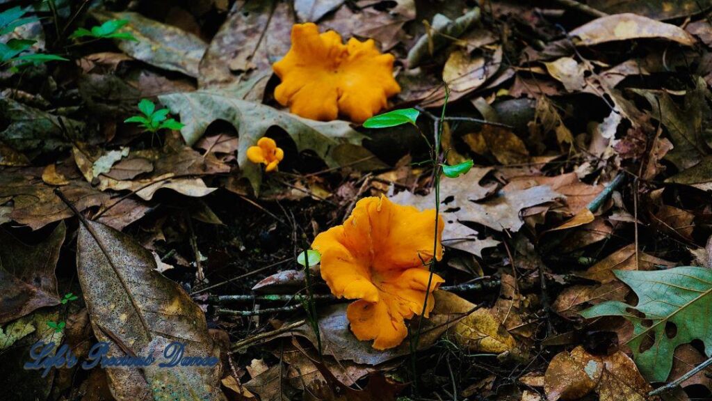
[[[706,355],[712,355],[712,325],[707,323],[712,310],[711,269],[685,266],[657,271],[615,270],[614,273],[634,290],[638,305],[609,301],[588,308],[581,315],[584,318],[622,316],[633,323],[633,337],[627,345],[646,379],[667,380],[678,345],[701,340]]]

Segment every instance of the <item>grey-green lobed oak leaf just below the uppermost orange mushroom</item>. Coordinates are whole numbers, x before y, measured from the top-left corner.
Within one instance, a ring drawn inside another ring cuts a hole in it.
[[[268,128],[283,128],[296,143],[298,151],[314,151],[331,167],[337,165],[332,157],[337,145],[360,145],[363,138],[346,121],[313,121],[217,90],[171,93],[159,96],[159,99],[181,115],[185,122],[181,133],[189,145],[198,141],[213,121],[224,120],[235,126],[240,137],[237,161],[255,192],[261,183],[261,171],[260,166],[247,160],[247,148],[257,143]]]

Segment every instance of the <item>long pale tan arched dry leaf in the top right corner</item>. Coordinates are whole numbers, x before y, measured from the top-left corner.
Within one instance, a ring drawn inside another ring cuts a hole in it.
[[[695,39],[678,26],[629,13],[603,16],[570,31],[569,35],[577,46],[646,38],[676,41],[685,46],[695,44]]]

